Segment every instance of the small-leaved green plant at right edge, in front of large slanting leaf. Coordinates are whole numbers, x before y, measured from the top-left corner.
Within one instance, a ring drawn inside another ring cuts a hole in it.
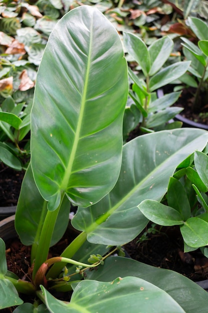
[[[167,204],[144,200],[139,209],[157,224],[180,225],[185,252],[208,243],[208,155],[196,151],[170,178]]]

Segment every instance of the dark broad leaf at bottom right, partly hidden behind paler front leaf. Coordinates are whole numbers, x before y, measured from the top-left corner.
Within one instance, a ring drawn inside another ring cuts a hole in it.
[[[168,292],[186,313],[205,313],[208,292],[187,277],[163,268],[153,267],[126,257],[109,257],[97,270],[88,271],[87,279],[109,281],[116,277],[136,276]],[[153,312],[147,310],[147,313]],[[157,313],[161,310],[156,310]],[[174,310],[172,312],[175,312]]]

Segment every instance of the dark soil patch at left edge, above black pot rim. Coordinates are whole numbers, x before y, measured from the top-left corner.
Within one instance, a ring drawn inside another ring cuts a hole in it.
[[[17,204],[25,171],[16,171],[0,162],[0,206]]]

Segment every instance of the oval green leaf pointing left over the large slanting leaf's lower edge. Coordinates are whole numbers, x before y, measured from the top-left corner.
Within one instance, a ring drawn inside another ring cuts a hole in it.
[[[144,200],[138,208],[147,218],[159,225],[172,226],[184,223],[179,211],[155,200]]]

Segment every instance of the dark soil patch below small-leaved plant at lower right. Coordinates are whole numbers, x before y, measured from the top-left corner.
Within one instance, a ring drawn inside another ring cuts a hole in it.
[[[148,227],[151,227],[149,224]],[[134,240],[125,245],[127,253],[134,259],[161,268],[175,270],[193,281],[208,278],[208,258],[197,249],[184,253],[183,238],[179,226],[156,226],[152,232],[148,227]]]

